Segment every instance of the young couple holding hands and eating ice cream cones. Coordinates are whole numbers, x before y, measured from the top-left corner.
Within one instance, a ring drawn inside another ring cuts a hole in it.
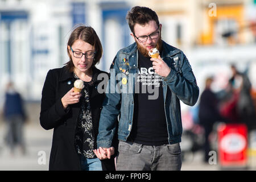
[[[180,100],[196,104],[196,78],[184,53],[162,40],[155,11],[135,6],[126,19],[135,43],[118,51],[110,69],[123,74],[123,87],[131,84],[130,74],[141,77],[140,70],[154,70],[152,77],[160,76],[159,96],[151,100],[152,93],[141,90],[99,93],[98,75],[108,74],[95,66],[102,56],[100,39],[92,27],[77,27],[68,40],[68,63],[47,73],[42,91],[40,124],[54,129],[49,170],[181,169]],[[148,56],[154,47],[158,58]],[[85,85],[80,93],[73,90],[77,79]],[[115,88],[112,79],[110,74],[106,90]],[[143,85],[145,79],[137,81]]]

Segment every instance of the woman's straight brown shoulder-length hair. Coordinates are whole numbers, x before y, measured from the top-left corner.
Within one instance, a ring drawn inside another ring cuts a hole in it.
[[[92,64],[92,67],[95,67],[96,64],[100,63],[100,59],[103,53],[101,41],[98,38],[96,31],[90,26],[79,26],[75,28],[75,30],[73,30],[73,32],[69,36],[67,46],[72,47],[73,43],[79,39],[83,40],[86,43],[89,43],[90,45],[93,46],[93,48],[95,48],[96,55],[94,57],[93,64]],[[69,61],[65,65],[67,66],[68,70],[72,72],[75,66],[73,64],[72,57],[69,53],[68,47],[67,47],[67,52],[69,56]]]

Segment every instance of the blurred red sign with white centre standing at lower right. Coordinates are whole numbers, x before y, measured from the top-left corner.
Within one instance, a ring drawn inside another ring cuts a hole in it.
[[[247,164],[247,127],[244,124],[221,124],[218,127],[218,156],[221,166]]]

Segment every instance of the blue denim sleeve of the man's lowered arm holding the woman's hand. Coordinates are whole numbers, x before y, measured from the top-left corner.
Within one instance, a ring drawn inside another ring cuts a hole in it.
[[[117,54],[118,55],[118,54]],[[101,117],[98,128],[97,146],[109,148],[117,128],[117,117],[120,113],[121,94],[115,90],[118,69],[118,56],[115,56],[110,66],[110,78],[106,87],[106,97],[101,110]]]

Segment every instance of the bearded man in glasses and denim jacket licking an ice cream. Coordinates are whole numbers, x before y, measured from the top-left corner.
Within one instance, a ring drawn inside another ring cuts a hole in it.
[[[180,100],[195,105],[195,76],[183,52],[161,39],[155,11],[136,6],[126,18],[135,43],[121,49],[110,67],[94,152],[100,159],[113,155],[118,125],[117,170],[180,170]],[[150,59],[154,47],[160,55]]]

